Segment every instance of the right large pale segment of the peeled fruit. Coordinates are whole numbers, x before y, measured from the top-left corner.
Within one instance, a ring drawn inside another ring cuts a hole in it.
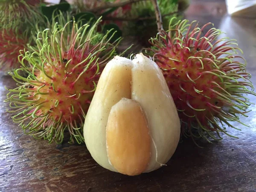
[[[144,172],[158,169],[172,157],[180,139],[180,119],[162,72],[144,55],[133,60],[131,99],[140,103],[154,144]]]

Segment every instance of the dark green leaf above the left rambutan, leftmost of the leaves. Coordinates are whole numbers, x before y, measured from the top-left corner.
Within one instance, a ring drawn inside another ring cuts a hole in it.
[[[53,5],[53,6],[44,6],[41,5],[41,12],[44,14],[49,20],[52,18],[52,14],[55,10],[61,11],[61,12],[66,12],[70,9],[70,4],[69,3],[60,3],[58,5]]]

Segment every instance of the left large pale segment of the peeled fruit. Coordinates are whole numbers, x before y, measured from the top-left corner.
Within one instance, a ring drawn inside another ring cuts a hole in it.
[[[116,171],[108,161],[106,126],[113,105],[131,97],[131,68],[129,59],[116,56],[102,72],[84,122],[84,140],[93,159],[99,165]]]

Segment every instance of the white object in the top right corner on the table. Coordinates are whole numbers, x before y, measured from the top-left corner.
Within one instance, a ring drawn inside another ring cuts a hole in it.
[[[256,0],[226,0],[226,5],[231,16],[256,18]]]

